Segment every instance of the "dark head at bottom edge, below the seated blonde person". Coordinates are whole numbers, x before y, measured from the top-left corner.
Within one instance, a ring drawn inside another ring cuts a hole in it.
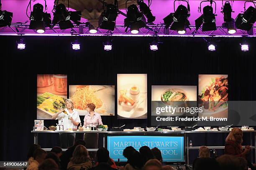
[[[195,170],[220,170],[220,165],[214,158],[199,158],[195,163]]]

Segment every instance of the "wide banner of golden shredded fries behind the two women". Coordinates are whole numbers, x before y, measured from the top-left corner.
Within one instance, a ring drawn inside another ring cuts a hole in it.
[[[95,112],[102,116],[115,115],[115,85],[69,85],[69,98],[74,110],[86,115],[87,104],[95,104]]]

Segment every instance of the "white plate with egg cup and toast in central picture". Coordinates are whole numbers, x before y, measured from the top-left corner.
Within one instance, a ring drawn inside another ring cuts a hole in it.
[[[118,115],[125,118],[136,118],[146,113],[146,87],[139,84],[121,86],[118,90]]]

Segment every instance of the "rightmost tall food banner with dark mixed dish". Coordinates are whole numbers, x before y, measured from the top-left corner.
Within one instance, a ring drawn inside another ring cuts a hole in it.
[[[199,75],[199,107],[203,115],[228,116],[228,75]]]

